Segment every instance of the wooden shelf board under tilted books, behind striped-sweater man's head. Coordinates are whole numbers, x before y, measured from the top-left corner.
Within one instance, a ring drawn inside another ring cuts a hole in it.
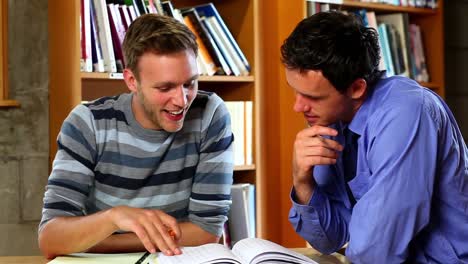
[[[81,79],[93,80],[123,80],[121,73],[108,73],[108,72],[81,72]],[[200,82],[254,82],[253,76],[205,76],[201,75],[198,79]]]

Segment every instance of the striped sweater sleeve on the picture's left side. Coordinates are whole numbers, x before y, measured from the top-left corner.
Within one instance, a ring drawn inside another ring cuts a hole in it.
[[[94,181],[96,157],[91,117],[89,109],[79,105],[62,125],[44,195],[39,230],[54,217],[86,214],[85,202]]]

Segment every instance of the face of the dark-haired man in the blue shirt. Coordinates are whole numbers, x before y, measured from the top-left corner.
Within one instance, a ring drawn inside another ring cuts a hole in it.
[[[303,113],[309,126],[351,121],[351,98],[338,92],[321,71],[286,69],[286,80],[296,93],[294,111]]]

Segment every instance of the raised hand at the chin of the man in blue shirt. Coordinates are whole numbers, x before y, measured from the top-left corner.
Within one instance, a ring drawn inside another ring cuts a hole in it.
[[[343,150],[343,146],[338,142],[322,137],[337,134],[335,129],[319,125],[306,128],[297,134],[293,150],[293,185],[297,202],[300,204],[306,204],[313,194],[314,166],[335,164],[338,151]]]

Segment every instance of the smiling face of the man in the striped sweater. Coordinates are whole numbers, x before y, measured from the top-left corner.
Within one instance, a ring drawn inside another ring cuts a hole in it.
[[[134,78],[136,89],[130,87],[135,93],[135,118],[147,129],[179,131],[198,91],[195,54],[190,50],[169,55],[147,52],[140,57],[138,69],[140,81]]]

